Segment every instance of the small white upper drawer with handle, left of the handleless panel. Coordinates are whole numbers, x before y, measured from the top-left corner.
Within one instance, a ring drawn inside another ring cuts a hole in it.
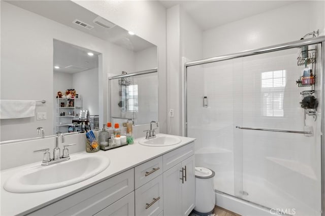
[[[163,173],[163,156],[147,161],[135,168],[135,188],[146,184]]]

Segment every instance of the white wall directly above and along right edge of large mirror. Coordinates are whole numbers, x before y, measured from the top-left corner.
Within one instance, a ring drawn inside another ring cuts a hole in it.
[[[159,127],[167,132],[166,8],[156,1],[74,1],[158,47]]]

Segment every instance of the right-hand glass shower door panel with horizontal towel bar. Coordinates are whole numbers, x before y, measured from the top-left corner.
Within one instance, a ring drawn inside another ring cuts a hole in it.
[[[243,58],[243,119],[238,126],[312,134],[237,128],[243,145],[241,197],[273,212],[320,215],[320,105],[312,115],[300,103],[304,97],[320,98],[320,56],[299,66],[298,52],[295,48]],[[296,81],[310,71],[316,75],[315,86],[299,87]],[[310,95],[310,90],[315,92]]]

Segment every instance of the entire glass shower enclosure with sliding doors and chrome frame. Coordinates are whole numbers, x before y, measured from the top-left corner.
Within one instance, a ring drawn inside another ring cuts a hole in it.
[[[185,135],[218,193],[322,215],[324,38],[185,63]]]

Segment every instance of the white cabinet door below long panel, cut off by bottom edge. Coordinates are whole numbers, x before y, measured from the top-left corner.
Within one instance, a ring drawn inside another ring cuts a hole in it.
[[[134,192],[104,208],[95,216],[134,216]]]

